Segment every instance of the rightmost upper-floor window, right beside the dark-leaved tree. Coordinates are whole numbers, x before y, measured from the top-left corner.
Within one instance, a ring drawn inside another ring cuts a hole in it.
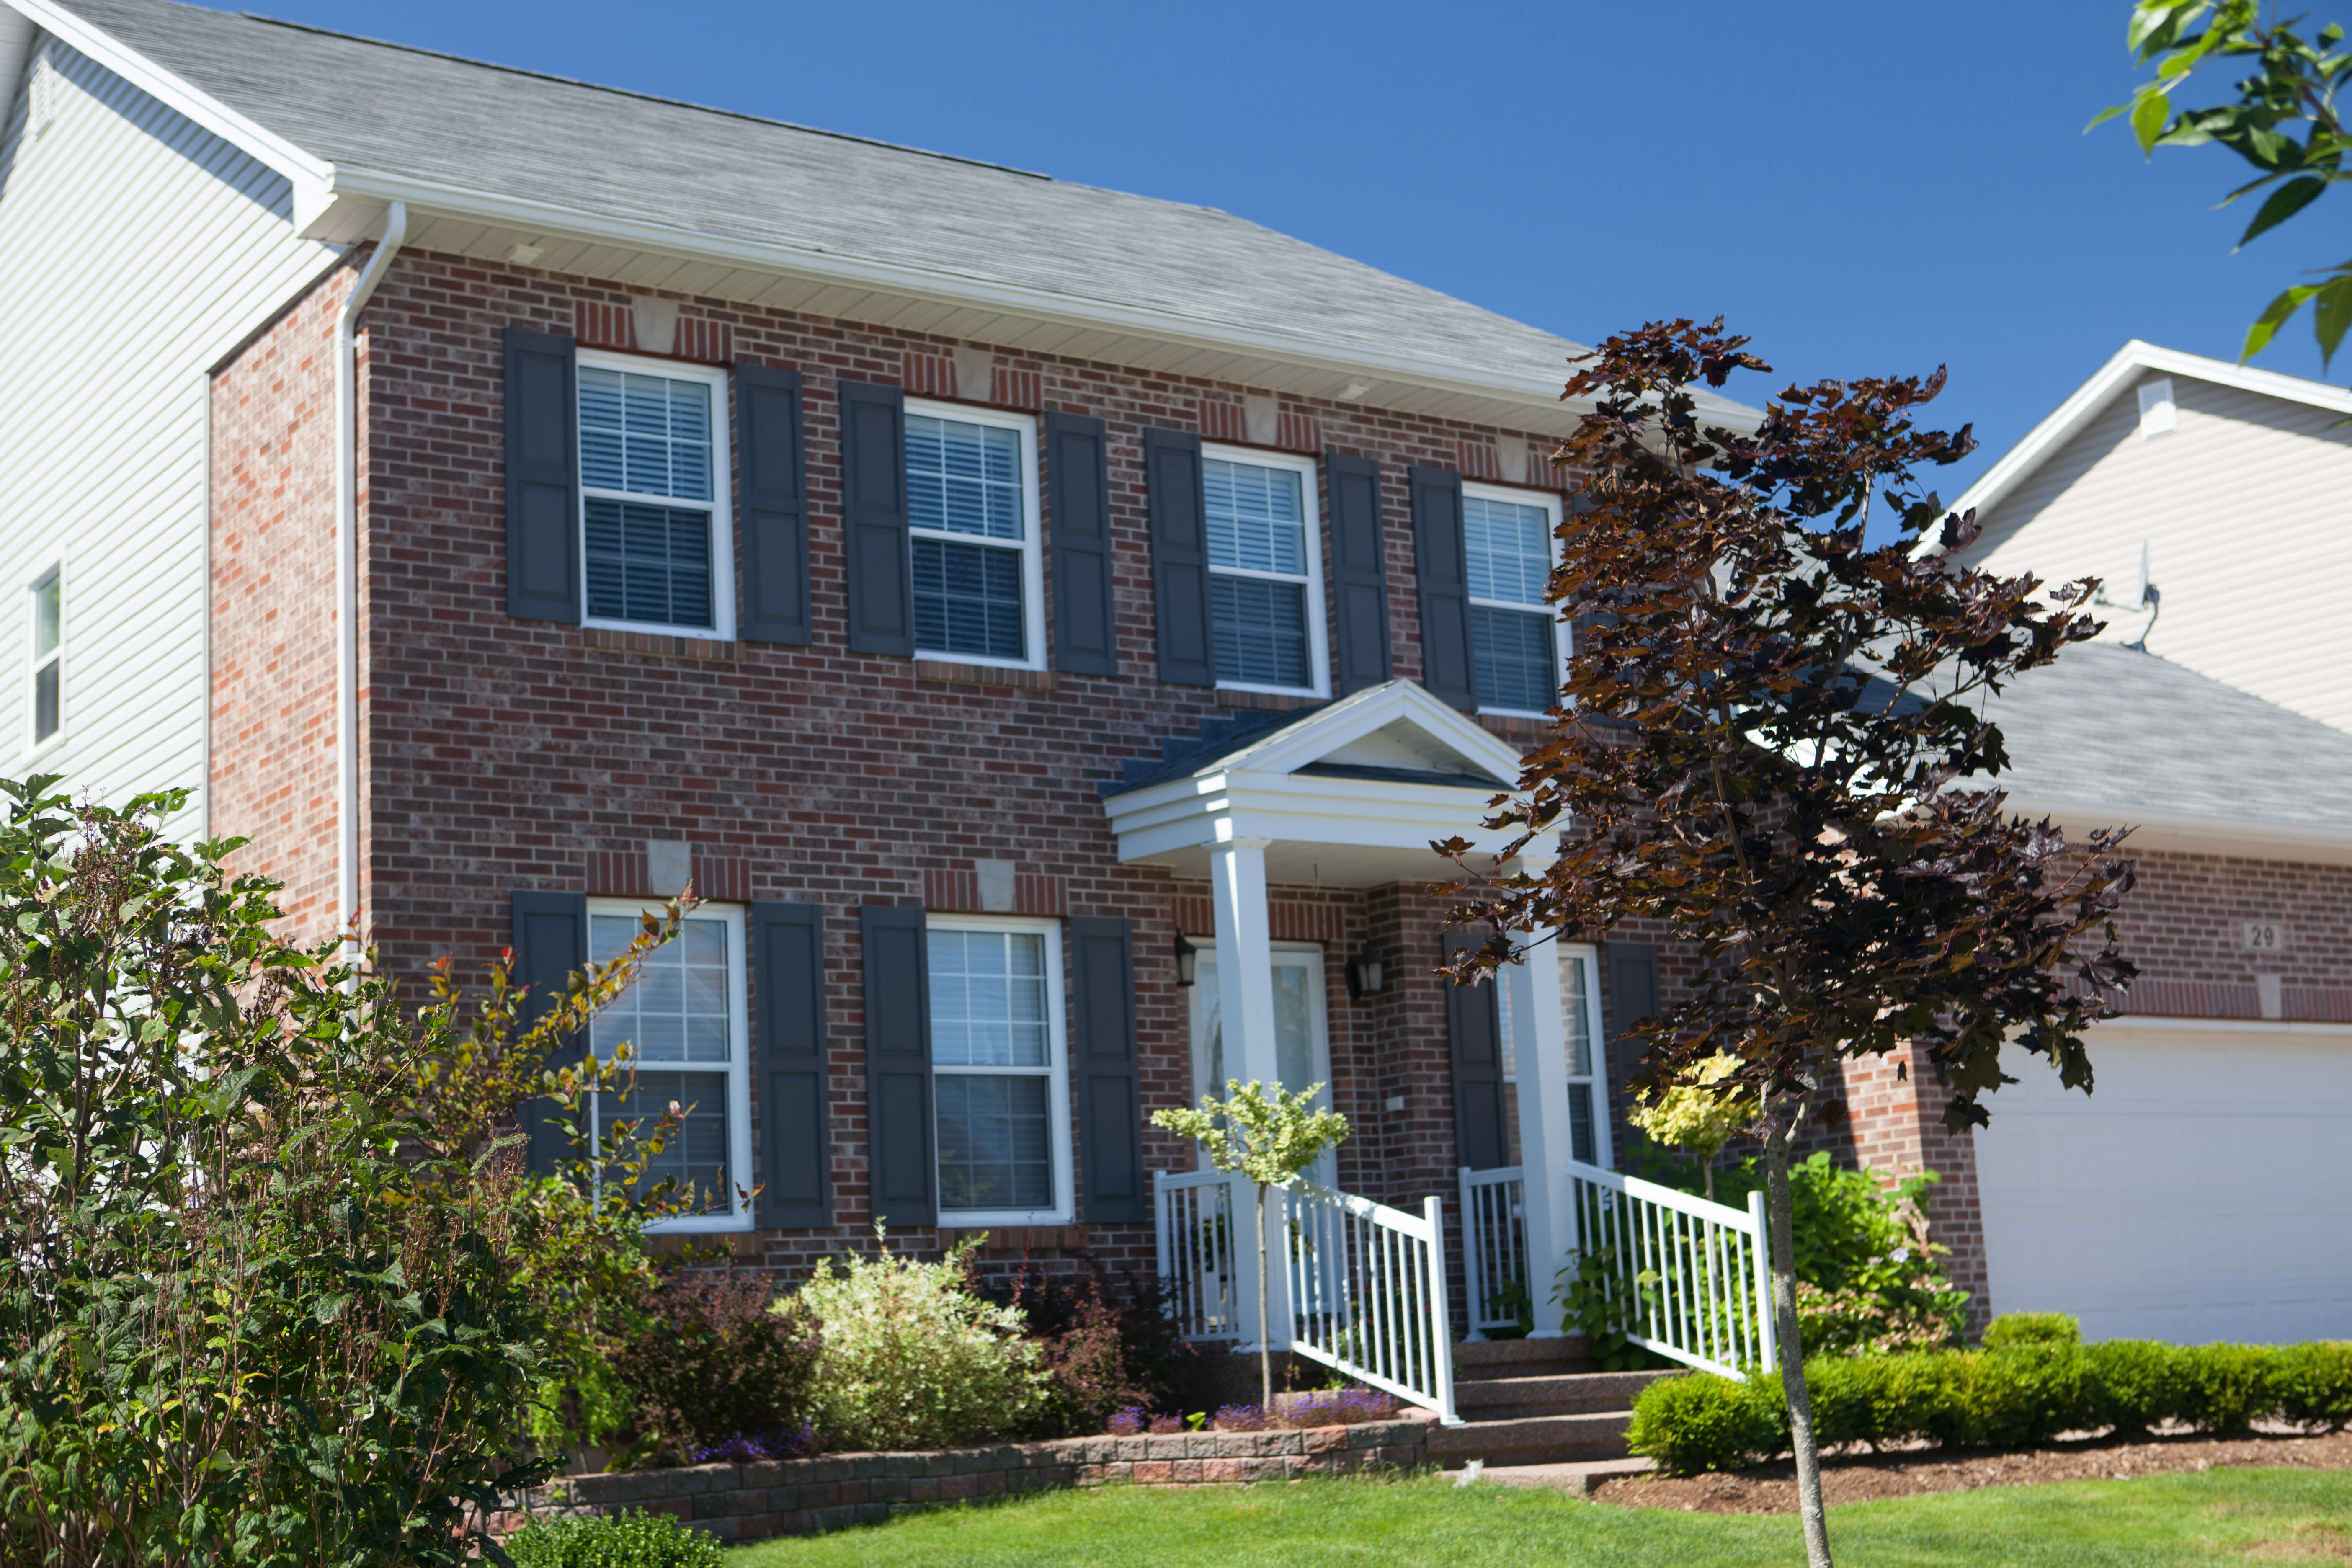
[[[1543,602],[1557,527],[1552,498],[1463,484],[1479,712],[1543,717],[1559,703],[1566,639],[1557,607]]]

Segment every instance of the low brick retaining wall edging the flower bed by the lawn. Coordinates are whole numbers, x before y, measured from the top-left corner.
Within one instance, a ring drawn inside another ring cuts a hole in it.
[[[1305,1432],[1169,1432],[1063,1436],[929,1453],[833,1453],[818,1460],[694,1465],[616,1476],[564,1476],[527,1507],[494,1514],[492,1535],[536,1519],[644,1509],[720,1540],[807,1535],[894,1514],[1061,1486],[1244,1486],[1331,1476],[1369,1465],[1416,1469],[1428,1460],[1418,1420]]]

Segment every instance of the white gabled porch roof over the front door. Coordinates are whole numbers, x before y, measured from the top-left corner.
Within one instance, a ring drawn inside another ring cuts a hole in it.
[[[1178,875],[1207,877],[1214,844],[1251,839],[1270,882],[1439,882],[1449,865],[1432,839],[1461,835],[1491,860],[1515,837],[1482,820],[1517,776],[1517,748],[1395,679],[1305,712],[1204,724],[1160,764],[1131,766],[1103,811],[1120,860]]]

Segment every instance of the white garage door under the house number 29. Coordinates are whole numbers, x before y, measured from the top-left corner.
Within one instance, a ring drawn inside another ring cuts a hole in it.
[[[1994,1312],[2084,1338],[2352,1338],[2352,1030],[2110,1023],[2098,1091],[2042,1058],[1976,1135]]]

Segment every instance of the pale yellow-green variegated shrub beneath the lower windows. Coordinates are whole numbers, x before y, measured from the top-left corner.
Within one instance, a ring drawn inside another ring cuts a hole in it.
[[[809,1415],[835,1448],[953,1448],[1018,1429],[1047,1396],[1021,1312],[967,1288],[978,1237],[943,1262],[889,1251],[826,1260],[774,1312],[809,1312],[823,1333]]]

